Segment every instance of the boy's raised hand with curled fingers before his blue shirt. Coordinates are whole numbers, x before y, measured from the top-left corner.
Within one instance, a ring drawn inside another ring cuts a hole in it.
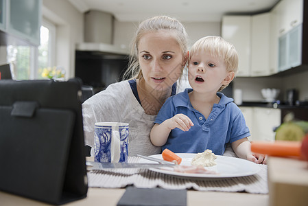
[[[189,119],[187,115],[183,114],[174,115],[174,117],[167,119],[166,121],[168,121],[168,128],[171,130],[173,130],[174,128],[179,128],[180,130],[188,131],[191,126],[193,126],[193,122],[191,122],[191,119]]]

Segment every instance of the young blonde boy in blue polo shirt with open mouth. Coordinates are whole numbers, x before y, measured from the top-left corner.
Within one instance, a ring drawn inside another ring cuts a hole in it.
[[[262,163],[252,154],[250,136],[241,110],[222,91],[237,73],[235,47],[220,36],[206,36],[192,47],[188,60],[189,84],[169,98],[159,111],[150,139],[155,146],[172,152],[197,153],[206,149],[223,155],[230,143],[243,159]]]

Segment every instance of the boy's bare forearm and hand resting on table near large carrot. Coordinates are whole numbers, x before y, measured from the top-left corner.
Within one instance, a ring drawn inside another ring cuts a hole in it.
[[[231,146],[238,157],[253,161],[254,163],[265,163],[264,155],[257,155],[251,152],[251,144],[247,137],[231,143]]]

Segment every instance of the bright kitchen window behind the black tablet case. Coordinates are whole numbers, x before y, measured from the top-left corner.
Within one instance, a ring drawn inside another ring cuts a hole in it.
[[[40,27],[40,46],[7,47],[8,62],[12,68],[12,76],[16,80],[42,79],[44,68],[55,65],[54,51],[56,27],[43,19]]]

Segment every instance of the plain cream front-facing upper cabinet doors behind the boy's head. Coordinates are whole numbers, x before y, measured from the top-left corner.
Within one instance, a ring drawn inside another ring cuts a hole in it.
[[[237,76],[269,76],[277,72],[277,38],[271,35],[274,17],[270,12],[223,16],[222,37],[233,43],[239,54]]]

